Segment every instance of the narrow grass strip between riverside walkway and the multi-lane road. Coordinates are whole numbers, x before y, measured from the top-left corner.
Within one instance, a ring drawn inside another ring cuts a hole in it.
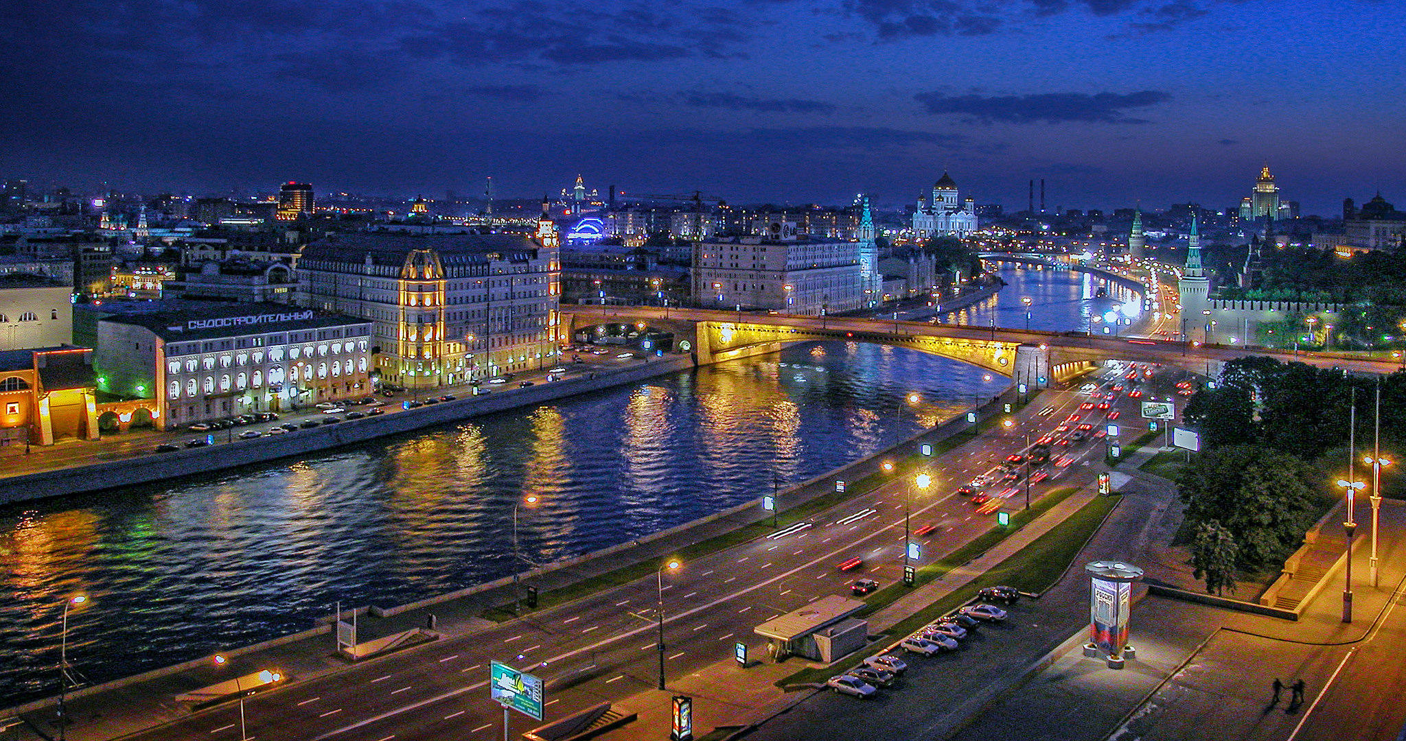
[[[970,442],[973,437],[976,437],[976,433],[972,429],[959,430],[943,440],[932,443],[932,454],[941,456],[943,453],[948,453],[956,449],[957,446]],[[905,472],[917,471],[925,467],[931,460],[932,458],[924,456],[908,456],[903,460],[896,461],[893,474],[873,472],[856,481],[846,481],[845,491],[842,492],[831,491],[820,496],[807,499],[806,502],[801,502],[790,509],[779,512],[776,515],[776,527],[786,527],[789,524],[794,524],[797,522],[813,517],[848,499],[853,499],[860,494],[868,494],[879,488],[880,485],[889,482],[893,478],[901,477]],[[742,543],[747,543],[749,540],[775,531],[776,530],[772,527],[770,519],[761,519],[758,522],[744,524],[735,530],[730,530],[727,533],[713,536],[707,540],[685,546],[678,553],[672,554],[672,557],[676,557],[682,560],[685,564],[688,564],[692,560],[702,558],[713,553],[724,551],[734,546],[740,546]],[[572,582],[569,585],[560,586],[557,589],[541,592],[537,596],[537,609],[540,610],[555,605],[562,605],[592,595],[595,592],[609,589],[612,586],[620,586],[624,584],[630,584],[636,579],[643,579],[644,576],[648,576],[650,574],[658,571],[664,564],[664,560],[665,558],[647,558],[644,561],[637,561],[634,564],[620,567],[606,574],[588,576],[578,582]],[[515,616],[512,605],[509,603],[484,610],[484,617],[486,620],[495,620],[502,623],[506,620],[512,620]]]

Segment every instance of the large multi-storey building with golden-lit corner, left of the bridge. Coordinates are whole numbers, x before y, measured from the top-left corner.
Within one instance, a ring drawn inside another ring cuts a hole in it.
[[[299,304],[373,323],[382,382],[430,388],[540,368],[560,353],[560,242],[533,236],[354,233],[298,262]]]

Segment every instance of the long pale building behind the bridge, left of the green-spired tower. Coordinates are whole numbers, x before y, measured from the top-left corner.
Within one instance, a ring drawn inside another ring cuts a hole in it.
[[[741,236],[695,243],[693,299],[709,308],[824,315],[865,305],[859,243]]]

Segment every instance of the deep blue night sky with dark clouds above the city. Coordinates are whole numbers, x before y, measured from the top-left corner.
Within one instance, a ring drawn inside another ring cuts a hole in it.
[[[205,195],[702,188],[1024,208],[1406,202],[1400,3],[34,0],[0,177]]]

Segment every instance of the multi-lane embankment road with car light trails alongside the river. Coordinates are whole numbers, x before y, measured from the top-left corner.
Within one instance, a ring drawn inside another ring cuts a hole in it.
[[[1083,398],[1049,391],[1017,416],[1022,425],[1053,427]],[[1039,415],[1045,405],[1057,413]],[[938,524],[927,540],[927,557],[950,553],[991,526],[956,487],[993,470],[1025,444],[1025,437],[988,432],[936,458],[931,471],[941,482],[912,503],[914,527]],[[1102,454],[1102,444],[1077,446],[1077,460]],[[1092,468],[1074,463],[1035,484],[1032,496],[1052,485],[1090,485]],[[1007,496],[1018,496],[1015,489]],[[762,537],[704,555],[664,576],[666,675],[682,676],[728,661],[735,641],[761,655],[763,641],[752,627],[824,595],[848,593],[855,572],[837,564],[865,560],[865,575],[880,584],[901,575],[903,510],[907,478],[820,513],[811,527],[780,537]],[[1019,506],[1011,502],[1008,508]],[[364,665],[339,669],[246,702],[249,737],[257,741],[389,741],[492,740],[502,737],[501,710],[488,697],[489,659],[505,659],[548,679],[581,672],[583,679],[553,690],[547,719],[560,719],[602,700],[620,700],[654,686],[657,676],[654,576],[544,609],[522,620],[446,637]],[[252,668],[253,669],[253,668]],[[84,734],[75,716],[69,737]],[[515,728],[529,721],[515,719]],[[91,734],[91,731],[89,731]],[[159,728],[129,735],[142,741],[239,738],[239,710],[231,703],[186,716]]]

